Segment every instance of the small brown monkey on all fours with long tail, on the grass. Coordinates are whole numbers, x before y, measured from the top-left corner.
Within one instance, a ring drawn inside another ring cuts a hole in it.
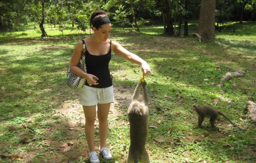
[[[214,123],[218,118],[218,115],[222,115],[223,117],[225,117],[228,121],[230,121],[230,123],[234,126],[236,126],[230,119],[228,119],[222,112],[214,109],[214,108],[210,108],[207,106],[201,106],[199,104],[193,104],[192,105],[192,109],[196,111],[197,115],[198,115],[198,126],[201,127],[202,123],[203,123],[203,119],[204,118],[210,118],[210,123],[212,125],[212,128],[215,128]],[[242,128],[236,126],[237,128],[239,128],[241,131],[245,132]]]

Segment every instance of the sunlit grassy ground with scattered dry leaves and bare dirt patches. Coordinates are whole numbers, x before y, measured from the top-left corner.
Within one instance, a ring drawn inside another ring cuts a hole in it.
[[[189,24],[190,35],[196,27],[196,22]],[[256,99],[255,22],[229,22],[216,32],[213,43],[199,43],[193,36],[167,37],[156,24],[140,30],[114,25],[110,39],[152,68],[146,77],[151,126],[146,148],[151,162],[253,163],[255,127],[245,106]],[[58,28],[46,26],[48,37],[42,39],[33,25],[25,26],[24,33],[0,35],[0,162],[88,163],[84,113],[77,92],[65,81],[71,53],[84,33],[66,27],[62,35]],[[245,71],[245,76],[218,87],[220,78],[233,68]],[[110,72],[116,100],[110,109],[107,143],[113,160],[100,161],[124,163],[130,142],[126,112],[141,72],[115,54]],[[221,110],[247,131],[242,133],[223,117],[216,123],[219,132],[211,130],[208,119],[198,128],[191,107],[195,102]],[[99,145],[98,125],[95,128]]]

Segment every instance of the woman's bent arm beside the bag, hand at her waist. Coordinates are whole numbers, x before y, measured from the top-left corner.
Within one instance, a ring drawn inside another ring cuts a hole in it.
[[[71,57],[71,62],[70,62],[70,70],[72,73],[86,78],[86,81],[88,84],[94,84],[97,85],[98,83],[96,83],[97,81],[95,81],[93,78],[98,79],[95,75],[92,74],[87,74],[85,73],[81,68],[78,67],[78,64],[82,58],[82,46],[83,43],[80,40],[77,45],[75,46],[75,49],[73,51],[72,57]]]

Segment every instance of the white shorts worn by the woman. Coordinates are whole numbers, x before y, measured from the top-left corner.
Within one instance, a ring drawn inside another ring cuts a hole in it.
[[[107,88],[93,88],[83,86],[78,91],[80,102],[83,106],[93,106],[96,104],[107,104],[114,101],[113,86]]]

